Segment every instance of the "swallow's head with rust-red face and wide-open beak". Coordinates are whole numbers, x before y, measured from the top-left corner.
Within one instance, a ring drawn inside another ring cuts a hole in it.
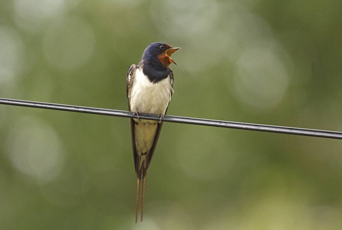
[[[174,60],[172,60],[171,54],[179,49],[181,48],[173,48],[169,44],[155,42],[147,46],[147,48],[144,50],[141,60],[144,62],[156,62],[161,64],[163,67],[169,67],[171,63],[176,64]]]

